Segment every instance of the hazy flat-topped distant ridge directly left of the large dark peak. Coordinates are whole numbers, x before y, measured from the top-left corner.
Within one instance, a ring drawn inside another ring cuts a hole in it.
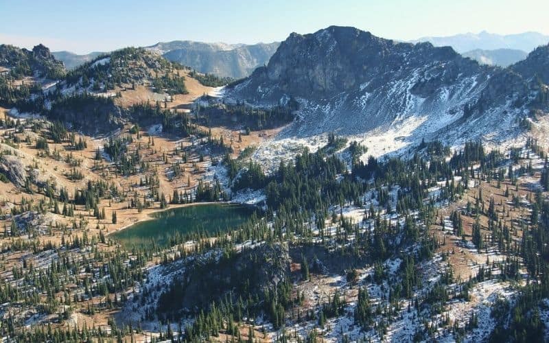
[[[189,66],[200,73],[213,73],[222,77],[244,78],[258,66],[268,62],[279,43],[254,45],[228,45],[176,40],[157,43],[148,49],[159,51],[172,62]]]

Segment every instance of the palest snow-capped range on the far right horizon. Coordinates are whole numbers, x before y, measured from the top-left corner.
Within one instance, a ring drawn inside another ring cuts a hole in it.
[[[532,51],[536,47],[539,47],[539,45],[548,44],[549,36],[538,32],[501,35],[482,31],[478,34],[467,33],[445,37],[422,37],[412,41],[412,43],[419,42],[430,42],[437,47],[450,46],[460,53],[475,49],[515,49]]]

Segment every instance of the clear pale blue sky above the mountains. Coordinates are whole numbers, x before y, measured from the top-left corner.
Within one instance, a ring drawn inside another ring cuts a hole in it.
[[[0,0],[0,43],[82,54],[168,40],[268,43],[329,25],[399,40],[549,34],[548,13],[548,0]]]

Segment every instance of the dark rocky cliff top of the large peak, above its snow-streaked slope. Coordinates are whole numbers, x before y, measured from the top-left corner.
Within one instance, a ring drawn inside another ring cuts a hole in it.
[[[451,47],[395,43],[355,27],[330,26],[314,34],[290,34],[266,68],[252,75],[250,89],[274,83],[287,95],[330,97],[364,84],[374,88],[388,78],[404,78],[425,65],[438,66],[437,73],[444,74],[439,83],[452,82],[459,73],[470,74],[479,68]]]

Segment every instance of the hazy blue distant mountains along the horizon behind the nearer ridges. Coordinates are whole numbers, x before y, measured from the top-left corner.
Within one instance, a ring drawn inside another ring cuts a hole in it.
[[[500,35],[483,31],[478,34],[423,37],[411,43],[426,41],[434,46],[450,46],[481,64],[507,67],[526,58],[528,52],[536,47],[549,43],[549,36],[537,32]],[[173,40],[156,43],[147,49],[157,51],[168,60],[184,64],[200,73],[238,79],[245,78],[255,68],[266,64],[279,45],[279,42],[246,45]],[[77,55],[69,51],[56,51],[53,54],[58,60],[65,62],[67,69],[73,69],[104,53],[97,51]]]

